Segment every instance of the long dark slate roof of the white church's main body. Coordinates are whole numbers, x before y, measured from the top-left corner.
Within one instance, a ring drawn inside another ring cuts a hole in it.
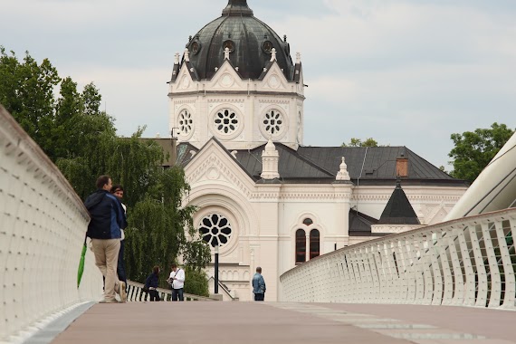
[[[280,179],[267,182],[336,183],[335,177],[339,172],[341,157],[344,157],[348,165],[349,177],[355,185],[393,186],[397,180],[396,161],[403,155],[408,158],[408,177],[403,178],[404,185],[468,186],[467,182],[450,177],[406,147],[300,147],[296,151],[279,142],[274,145],[280,155],[278,166]],[[262,145],[251,150],[236,151],[238,163],[259,183],[261,183],[264,147],[265,145]],[[186,166],[192,158],[191,154],[186,154],[190,150],[198,149],[188,143],[178,145],[177,161],[180,165]],[[363,170],[362,165],[364,165]]]

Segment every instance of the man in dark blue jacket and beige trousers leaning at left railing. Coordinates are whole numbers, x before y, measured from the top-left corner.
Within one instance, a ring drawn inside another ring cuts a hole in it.
[[[127,300],[126,286],[119,282],[117,264],[119,260],[121,231],[127,227],[126,215],[117,197],[110,194],[112,186],[110,176],[100,176],[97,179],[97,191],[88,196],[84,205],[90,212],[91,221],[87,235],[91,238],[95,264],[104,275],[103,303],[116,303],[115,292],[120,300]]]

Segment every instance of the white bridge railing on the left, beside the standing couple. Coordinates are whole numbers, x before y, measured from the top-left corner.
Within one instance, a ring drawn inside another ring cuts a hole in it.
[[[0,342],[20,341],[45,317],[100,300],[91,253],[77,288],[89,220],[66,178],[0,106]]]

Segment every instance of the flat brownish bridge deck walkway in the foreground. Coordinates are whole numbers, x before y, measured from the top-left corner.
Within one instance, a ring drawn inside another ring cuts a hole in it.
[[[446,306],[129,302],[93,305],[53,343],[504,344],[514,324],[514,311]]]

